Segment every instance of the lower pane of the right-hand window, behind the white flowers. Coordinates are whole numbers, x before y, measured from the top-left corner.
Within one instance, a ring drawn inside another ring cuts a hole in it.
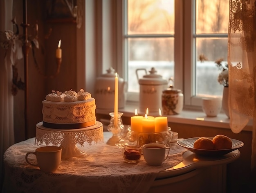
[[[218,82],[221,70],[215,61],[222,58],[222,65],[227,64],[227,38],[196,38],[196,47],[196,94],[222,95],[223,85]],[[200,61],[202,55],[205,58]]]

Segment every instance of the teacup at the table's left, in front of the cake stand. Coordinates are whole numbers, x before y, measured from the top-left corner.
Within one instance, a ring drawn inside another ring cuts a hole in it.
[[[34,152],[28,152],[26,154],[26,162],[31,166],[38,166],[40,170],[45,173],[52,173],[56,171],[61,163],[61,151],[62,148],[58,146],[44,146],[36,148]],[[31,164],[28,160],[28,155],[36,155],[37,164]]]

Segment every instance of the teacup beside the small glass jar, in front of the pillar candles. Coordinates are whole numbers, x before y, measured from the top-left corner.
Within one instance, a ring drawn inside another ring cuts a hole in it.
[[[170,148],[168,148],[168,154],[166,155],[166,145],[164,144],[144,144],[142,148],[144,159],[150,166],[161,165],[167,159],[170,151]]]

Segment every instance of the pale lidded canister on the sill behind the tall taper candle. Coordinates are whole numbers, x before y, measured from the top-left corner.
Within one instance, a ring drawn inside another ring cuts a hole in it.
[[[95,85],[96,107],[113,109],[115,106],[115,69],[110,67],[106,74],[97,77]],[[126,82],[118,76],[118,108],[124,108],[126,101]]]

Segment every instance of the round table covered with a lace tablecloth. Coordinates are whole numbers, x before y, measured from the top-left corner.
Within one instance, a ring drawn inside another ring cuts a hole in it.
[[[4,153],[3,192],[143,193],[204,188],[220,192],[225,190],[226,165],[240,156],[234,150],[220,157],[200,157],[173,143],[161,166],[148,166],[143,156],[138,164],[128,164],[120,148],[106,144],[112,133],[103,135],[103,144],[83,147],[86,155],[62,159],[50,174],[25,161],[26,153],[38,147],[35,138],[14,144]]]

